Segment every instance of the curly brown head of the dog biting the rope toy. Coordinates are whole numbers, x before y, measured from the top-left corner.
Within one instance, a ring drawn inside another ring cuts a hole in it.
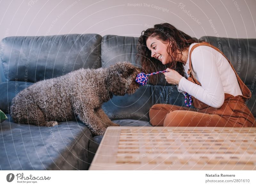
[[[109,76],[107,78],[108,90],[116,96],[133,94],[139,88],[135,81],[141,69],[128,62],[119,62],[108,67]]]

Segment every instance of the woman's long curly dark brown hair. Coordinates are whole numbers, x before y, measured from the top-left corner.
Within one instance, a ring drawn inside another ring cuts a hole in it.
[[[165,44],[168,44],[167,53],[169,54],[170,63],[163,65],[159,60],[151,57],[146,41],[148,37],[154,37]],[[192,43],[202,43],[196,38],[185,34],[169,23],[161,23],[154,25],[153,28],[148,28],[141,32],[138,45],[138,53],[136,61],[140,61],[142,68],[146,73],[165,70],[166,68],[176,70],[180,75],[184,76],[183,64],[175,61],[182,51],[185,51]],[[172,47],[170,47],[172,45]],[[177,52],[179,51],[179,52]],[[138,63],[137,63],[138,64]],[[150,76],[150,82],[156,83],[157,76]]]

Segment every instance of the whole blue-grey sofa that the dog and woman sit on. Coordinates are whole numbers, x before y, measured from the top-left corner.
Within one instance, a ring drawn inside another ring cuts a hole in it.
[[[219,47],[231,59],[242,80],[253,92],[248,101],[254,117],[256,39],[201,37]],[[79,68],[106,68],[119,61],[135,61],[138,38],[97,34],[17,36],[0,45],[0,109],[8,119],[1,123],[1,170],[87,170],[102,136],[92,136],[81,121],[60,122],[54,127],[14,123],[12,98],[22,89],[44,79]],[[184,106],[176,86],[159,75],[156,84],[141,86],[133,95],[114,96],[102,108],[121,126],[151,126],[149,108],[156,103]]]

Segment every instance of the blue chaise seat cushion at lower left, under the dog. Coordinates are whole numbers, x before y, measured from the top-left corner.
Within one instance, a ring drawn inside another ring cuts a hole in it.
[[[10,118],[9,115],[7,115]],[[54,127],[1,123],[1,170],[87,170],[90,130],[81,122]]]

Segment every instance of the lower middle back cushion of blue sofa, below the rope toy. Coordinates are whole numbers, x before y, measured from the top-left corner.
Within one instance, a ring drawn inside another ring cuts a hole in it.
[[[158,103],[185,106],[184,95],[176,86],[140,86],[132,95],[114,96],[102,109],[111,120],[149,121],[149,109]]]

